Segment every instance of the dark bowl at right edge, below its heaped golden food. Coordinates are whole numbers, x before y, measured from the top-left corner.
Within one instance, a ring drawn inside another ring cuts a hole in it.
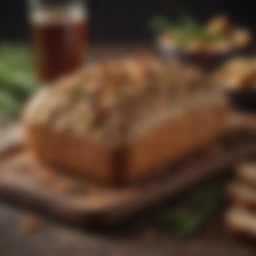
[[[256,90],[227,89],[225,94],[233,108],[256,113]]]

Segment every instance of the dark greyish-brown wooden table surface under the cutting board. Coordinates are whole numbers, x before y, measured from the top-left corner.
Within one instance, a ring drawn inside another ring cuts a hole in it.
[[[141,46],[92,48],[89,59],[133,52]],[[150,47],[147,47],[147,50]],[[5,127],[6,129],[6,127]],[[8,128],[7,128],[8,130]],[[2,124],[0,136],[4,136]],[[0,140],[1,140],[0,137]],[[225,210],[225,209],[223,209]],[[38,213],[0,202],[0,256],[249,256],[256,255],[253,243],[232,238],[222,223],[223,211],[209,221],[199,234],[186,240],[158,230],[147,220],[148,213],[129,220],[113,230],[86,230],[70,227],[47,216],[32,233],[25,232],[24,221]]]

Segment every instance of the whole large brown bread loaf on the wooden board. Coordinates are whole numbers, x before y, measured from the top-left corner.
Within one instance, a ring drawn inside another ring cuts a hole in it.
[[[134,182],[219,136],[225,109],[198,70],[133,57],[88,65],[43,88],[26,108],[24,129],[43,162]]]

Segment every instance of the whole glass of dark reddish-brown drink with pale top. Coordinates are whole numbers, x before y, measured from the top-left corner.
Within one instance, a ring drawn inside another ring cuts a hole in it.
[[[50,82],[83,65],[87,13],[79,0],[30,0],[39,80]]]

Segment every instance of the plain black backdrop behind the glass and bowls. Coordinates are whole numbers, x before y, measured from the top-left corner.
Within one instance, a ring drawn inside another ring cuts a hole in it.
[[[91,42],[144,41],[149,33],[147,21],[159,14],[175,16],[187,11],[204,21],[216,13],[228,13],[235,23],[256,30],[254,1],[229,0],[91,0],[87,1]],[[0,1],[0,38],[29,39],[26,0]]]

